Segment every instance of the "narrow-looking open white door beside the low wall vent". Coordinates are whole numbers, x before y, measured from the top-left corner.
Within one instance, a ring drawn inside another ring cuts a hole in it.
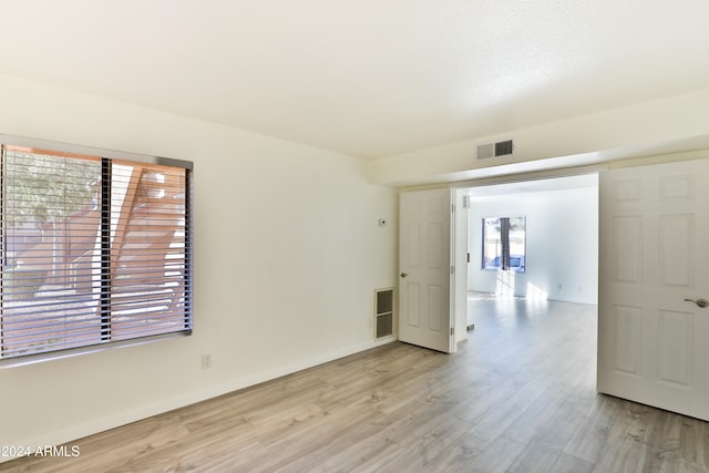
[[[451,353],[451,191],[400,196],[399,339]]]

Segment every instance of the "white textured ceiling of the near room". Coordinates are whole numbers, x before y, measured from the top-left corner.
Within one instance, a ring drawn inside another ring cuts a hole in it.
[[[0,73],[363,158],[709,86],[706,0],[2,0]]]

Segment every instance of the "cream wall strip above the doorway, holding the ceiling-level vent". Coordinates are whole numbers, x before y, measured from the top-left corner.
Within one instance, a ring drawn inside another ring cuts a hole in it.
[[[708,107],[709,89],[388,156],[368,163],[368,175],[390,185],[460,182],[702,150],[709,138]],[[479,144],[510,138],[512,156],[475,158]]]

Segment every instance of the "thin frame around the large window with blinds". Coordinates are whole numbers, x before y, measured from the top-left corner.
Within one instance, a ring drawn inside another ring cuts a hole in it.
[[[25,353],[25,354],[11,354],[9,357],[0,358],[0,368],[13,367],[13,366],[23,366],[31,364],[44,360],[51,359],[61,359],[66,357],[79,356],[83,353],[97,352],[111,350],[114,348],[122,348],[126,346],[135,346],[135,345],[144,345],[148,342],[154,342],[163,339],[172,339],[175,337],[188,336],[193,331],[193,308],[194,308],[194,299],[193,299],[193,287],[194,287],[194,227],[193,227],[193,207],[194,207],[194,192],[193,192],[193,163],[189,161],[183,160],[174,160],[166,158],[162,156],[151,156],[143,155],[136,153],[127,153],[127,152],[119,152],[105,148],[90,147],[90,146],[81,146],[74,144],[51,142],[44,140],[34,140],[34,138],[25,138],[19,136],[11,136],[0,134],[0,145],[9,146],[9,147],[22,147],[22,148],[32,148],[32,150],[44,150],[51,152],[54,155],[61,156],[64,155],[66,157],[74,157],[72,155],[80,156],[95,156],[102,160],[107,160],[111,162],[127,162],[134,163],[135,165],[157,165],[157,166],[168,166],[172,168],[181,168],[185,169],[184,173],[184,275],[182,281],[184,284],[183,287],[183,298],[184,298],[184,308],[182,309],[185,315],[185,329],[179,331],[171,331],[165,333],[157,335],[141,335],[135,338],[129,338],[123,340],[106,340],[100,343],[89,343],[84,346],[73,347],[73,348],[59,348],[51,349],[45,351],[40,351],[35,353]],[[2,207],[0,207],[0,213],[4,212]],[[181,224],[182,226],[182,224]],[[3,250],[4,248],[0,248]],[[4,310],[0,307],[0,310]],[[2,313],[0,312],[0,317]],[[0,330],[2,327],[0,326]],[[0,333],[1,337],[1,333]],[[0,340],[1,342],[2,340]]]

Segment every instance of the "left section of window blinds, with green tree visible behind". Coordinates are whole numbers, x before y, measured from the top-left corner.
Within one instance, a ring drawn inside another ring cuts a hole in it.
[[[0,357],[101,342],[101,160],[4,146]]]

